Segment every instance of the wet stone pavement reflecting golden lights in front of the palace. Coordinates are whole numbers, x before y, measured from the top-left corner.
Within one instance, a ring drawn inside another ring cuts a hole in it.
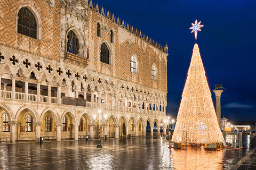
[[[0,169],[256,169],[256,139],[242,150],[168,149],[165,137],[0,143]],[[255,148],[254,148],[255,147]]]

